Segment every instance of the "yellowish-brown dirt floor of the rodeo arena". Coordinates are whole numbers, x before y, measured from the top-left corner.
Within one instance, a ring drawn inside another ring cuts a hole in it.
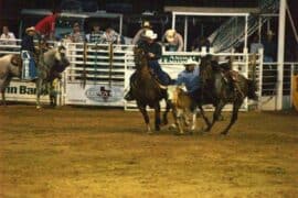
[[[0,107],[0,197],[298,197],[298,114],[226,123],[148,135],[138,111]]]

